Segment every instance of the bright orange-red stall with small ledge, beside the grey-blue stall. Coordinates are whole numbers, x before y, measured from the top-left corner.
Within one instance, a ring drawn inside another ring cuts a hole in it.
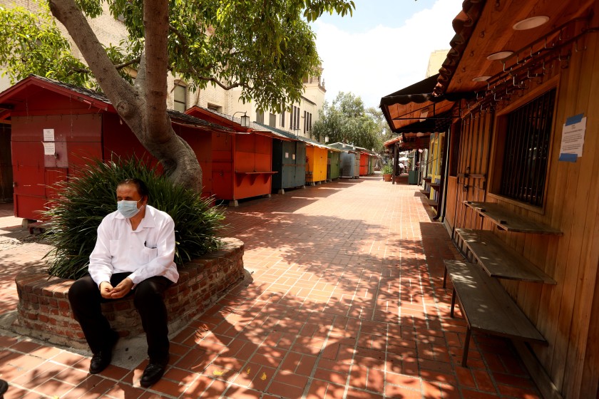
[[[217,199],[236,207],[239,199],[270,196],[272,189],[272,138],[289,140],[251,123],[243,127],[230,115],[194,106],[188,115],[235,130],[213,133],[213,193]]]

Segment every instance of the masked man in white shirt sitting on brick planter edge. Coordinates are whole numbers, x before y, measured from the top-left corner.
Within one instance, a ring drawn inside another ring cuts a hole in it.
[[[117,210],[98,227],[89,274],[73,283],[68,301],[93,353],[89,372],[103,371],[112,360],[118,333],[101,311],[101,302],[133,295],[148,341],[150,363],[140,385],[162,378],[168,364],[168,316],[163,293],[177,282],[175,223],[148,205],[148,188],[138,179],[116,187]]]

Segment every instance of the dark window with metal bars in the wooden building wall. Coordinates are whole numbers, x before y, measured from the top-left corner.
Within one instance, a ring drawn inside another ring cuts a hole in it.
[[[543,205],[556,90],[507,115],[500,194]]]

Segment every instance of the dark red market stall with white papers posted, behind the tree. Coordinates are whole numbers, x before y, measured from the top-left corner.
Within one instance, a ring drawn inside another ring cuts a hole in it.
[[[0,103],[11,113],[16,217],[40,219],[39,212],[53,198],[50,186],[76,175],[91,158],[135,155],[156,162],[101,93],[29,76],[0,93]],[[198,157],[203,195],[212,195],[212,133],[225,130],[184,113],[169,114],[175,133]]]

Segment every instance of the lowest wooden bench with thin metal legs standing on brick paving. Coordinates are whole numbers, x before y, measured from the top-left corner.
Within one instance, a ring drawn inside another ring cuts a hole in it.
[[[446,259],[445,267],[454,284],[450,315],[454,317],[457,296],[460,309],[466,319],[462,366],[466,367],[468,360],[471,331],[521,341],[547,342],[499,281],[488,276],[481,266]]]

